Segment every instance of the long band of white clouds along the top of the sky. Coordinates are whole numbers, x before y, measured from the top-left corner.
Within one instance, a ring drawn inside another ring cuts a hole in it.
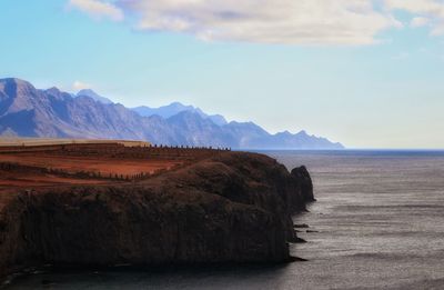
[[[401,28],[394,11],[408,12],[411,27],[444,34],[443,0],[69,0],[93,17],[131,19],[140,30],[173,31],[203,40],[282,44],[362,46]]]

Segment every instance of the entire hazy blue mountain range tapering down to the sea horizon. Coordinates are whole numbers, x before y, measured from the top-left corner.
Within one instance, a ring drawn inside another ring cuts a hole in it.
[[[39,90],[20,79],[0,79],[0,136],[130,139],[234,149],[343,148],[304,131],[270,134],[252,122],[226,123],[223,117],[218,121],[192,106],[147,107],[152,111],[141,112],[97,97],[91,91],[72,97],[57,88]]]

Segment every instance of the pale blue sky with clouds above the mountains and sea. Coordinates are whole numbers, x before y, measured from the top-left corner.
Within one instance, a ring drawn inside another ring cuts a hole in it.
[[[0,78],[444,148],[442,0],[1,0]]]

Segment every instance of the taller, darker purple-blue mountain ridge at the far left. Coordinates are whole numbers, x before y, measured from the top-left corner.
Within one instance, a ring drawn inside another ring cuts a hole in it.
[[[23,137],[143,139],[169,142],[174,132],[161,118],[142,118],[122,104],[37,90],[18,79],[0,80],[0,133]]]

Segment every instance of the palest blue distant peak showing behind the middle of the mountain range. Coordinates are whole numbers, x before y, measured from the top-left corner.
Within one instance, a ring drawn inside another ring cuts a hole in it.
[[[141,106],[141,107],[132,108],[131,110],[133,110],[134,112],[137,112],[143,117],[150,117],[150,116],[157,114],[164,119],[168,119],[168,118],[170,118],[174,114],[178,114],[180,112],[183,112],[183,111],[189,111],[189,112],[198,113],[203,119],[210,119],[215,124],[219,124],[219,126],[226,124],[225,118],[221,114],[206,114],[199,108],[194,108],[193,106],[184,106],[180,102],[172,102],[168,106],[162,106],[159,108],[150,108],[147,106]]]

